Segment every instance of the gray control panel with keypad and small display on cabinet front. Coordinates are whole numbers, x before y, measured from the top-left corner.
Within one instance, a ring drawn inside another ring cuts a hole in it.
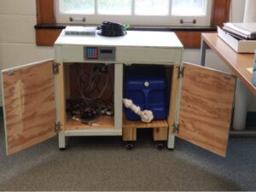
[[[84,47],[85,61],[115,61],[115,47]]]

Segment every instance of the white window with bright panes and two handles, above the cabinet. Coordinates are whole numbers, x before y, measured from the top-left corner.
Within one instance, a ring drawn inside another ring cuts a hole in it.
[[[56,0],[55,8],[57,23],[210,26],[212,0]]]

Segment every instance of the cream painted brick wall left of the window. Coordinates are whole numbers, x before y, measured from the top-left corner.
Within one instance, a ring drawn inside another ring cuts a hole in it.
[[[54,58],[53,48],[36,46],[36,22],[35,0],[0,1],[0,69]]]

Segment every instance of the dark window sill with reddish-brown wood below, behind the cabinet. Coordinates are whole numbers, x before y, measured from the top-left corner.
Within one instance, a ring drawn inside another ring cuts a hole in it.
[[[65,29],[66,25],[36,25],[36,38],[38,46],[53,46],[55,40]],[[199,49],[201,47],[201,32],[216,32],[212,26],[170,26],[170,27],[131,27],[131,31],[159,31],[175,32],[185,49]]]

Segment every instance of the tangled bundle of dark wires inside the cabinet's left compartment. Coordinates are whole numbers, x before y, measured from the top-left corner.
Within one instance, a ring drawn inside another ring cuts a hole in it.
[[[81,122],[96,119],[101,115],[113,116],[113,90],[106,96],[108,85],[113,84],[110,75],[113,73],[113,67],[99,64],[86,68],[82,66],[75,65],[80,96],[67,99],[67,113]],[[87,70],[90,70],[90,73]]]

